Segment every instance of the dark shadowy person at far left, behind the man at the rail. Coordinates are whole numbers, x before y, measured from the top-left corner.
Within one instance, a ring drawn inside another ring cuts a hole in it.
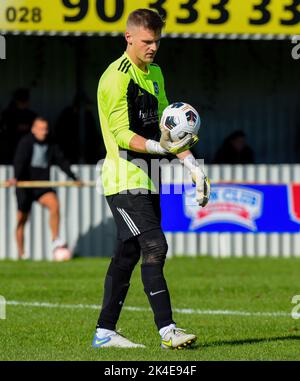
[[[30,132],[37,114],[30,108],[30,91],[17,89],[0,118],[0,163],[12,164],[19,141]]]

